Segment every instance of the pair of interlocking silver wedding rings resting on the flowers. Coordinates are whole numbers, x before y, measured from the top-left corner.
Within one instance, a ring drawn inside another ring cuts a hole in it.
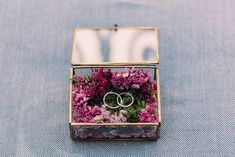
[[[109,95],[116,95],[117,96],[117,99],[116,99],[117,102],[116,102],[115,106],[110,106],[109,104],[107,104],[106,97],[109,96]],[[124,102],[123,102],[122,96],[124,96],[124,95],[127,95],[131,98],[131,102],[127,105],[124,105]],[[107,106],[109,108],[112,108],[112,109],[116,109],[116,108],[119,108],[119,107],[126,108],[126,107],[130,107],[134,103],[134,98],[130,93],[127,93],[127,92],[123,92],[123,93],[120,93],[120,94],[118,94],[116,92],[108,92],[104,95],[103,102],[104,102],[105,106]]]

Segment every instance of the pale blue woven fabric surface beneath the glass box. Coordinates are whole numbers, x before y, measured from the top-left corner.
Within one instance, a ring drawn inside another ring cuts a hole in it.
[[[73,142],[75,27],[160,28],[157,142]],[[235,156],[234,0],[0,0],[0,156]]]

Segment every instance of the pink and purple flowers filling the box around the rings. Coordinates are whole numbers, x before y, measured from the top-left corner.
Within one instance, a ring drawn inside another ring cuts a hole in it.
[[[142,69],[115,72],[102,68],[90,75],[74,75],[72,86],[72,114],[75,122],[127,122],[124,109],[110,112],[103,105],[103,96],[110,91],[138,90],[147,95],[146,105],[139,114],[140,122],[156,122],[156,83],[150,73]]]

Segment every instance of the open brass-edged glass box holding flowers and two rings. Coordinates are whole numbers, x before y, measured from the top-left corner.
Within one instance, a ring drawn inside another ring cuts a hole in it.
[[[70,71],[73,140],[157,140],[157,28],[77,28]]]

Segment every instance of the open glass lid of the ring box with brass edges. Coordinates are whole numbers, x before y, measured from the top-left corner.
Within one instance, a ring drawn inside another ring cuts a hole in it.
[[[158,64],[157,28],[77,28],[72,65]]]

